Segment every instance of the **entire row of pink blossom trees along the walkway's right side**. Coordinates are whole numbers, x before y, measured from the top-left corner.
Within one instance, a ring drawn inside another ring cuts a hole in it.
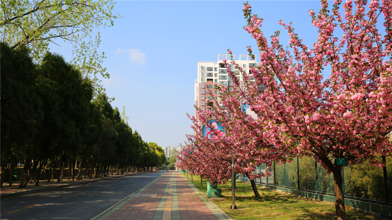
[[[269,43],[260,29],[263,19],[252,14],[247,3],[243,11],[244,29],[256,40],[260,63],[246,72],[233,56],[231,62],[223,59],[237,88],[217,87],[222,105],[216,102],[210,109],[197,109],[197,118],[191,117],[195,135],[189,135],[190,144],[179,155],[178,166],[224,182],[231,177],[231,152],[236,158],[236,173],[251,179],[260,163],[279,164],[297,156],[313,156],[333,174],[336,214],[338,220],[345,220],[343,167],[366,159],[385,166],[380,158],[392,154],[388,139],[392,131],[392,2],[355,0],[342,4],[336,0],[330,7],[328,1],[321,0],[319,13],[309,12],[312,25],[319,29],[313,48],[302,42],[291,23],[283,21],[279,24],[288,31],[288,47],[280,44],[279,31]],[[377,20],[382,17],[385,29],[379,32]],[[341,38],[337,31],[343,33]],[[247,50],[255,60],[252,49]],[[231,50],[228,53],[232,55]],[[245,84],[229,64],[241,72]],[[331,66],[326,79],[324,66]],[[258,88],[264,86],[261,92]],[[240,110],[245,101],[258,115],[256,119]],[[216,143],[201,134],[200,125],[212,117],[226,130],[225,137]]]

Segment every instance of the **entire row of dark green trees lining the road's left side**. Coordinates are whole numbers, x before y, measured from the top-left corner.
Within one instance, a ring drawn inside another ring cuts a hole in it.
[[[24,165],[20,188],[32,178],[38,185],[46,167],[61,174],[66,163],[74,179],[76,163],[99,177],[165,162],[161,147],[132,131],[124,109],[113,108],[104,93],[93,99],[93,88],[58,54],[47,52],[37,64],[26,47],[1,43],[1,186],[4,169],[11,177],[18,162]]]

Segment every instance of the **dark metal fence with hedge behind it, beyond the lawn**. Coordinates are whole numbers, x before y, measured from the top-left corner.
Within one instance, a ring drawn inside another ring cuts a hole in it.
[[[386,167],[362,164],[344,167],[345,198],[392,205],[392,157],[384,158]],[[381,161],[381,159],[380,159]],[[266,164],[256,167],[255,174],[264,172]],[[271,176],[255,179],[256,183],[335,196],[334,178],[313,157],[294,158],[291,163],[270,167]],[[245,176],[239,180],[249,181]]]

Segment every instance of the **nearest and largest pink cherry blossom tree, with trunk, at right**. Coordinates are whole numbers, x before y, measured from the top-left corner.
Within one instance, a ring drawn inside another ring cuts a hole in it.
[[[333,174],[336,214],[345,220],[343,161],[368,159],[384,166],[378,158],[392,153],[387,137],[392,131],[392,1],[335,0],[329,7],[321,0],[319,13],[309,14],[319,29],[312,47],[292,23],[278,22],[288,31],[288,49],[280,44],[279,32],[268,42],[260,29],[263,19],[244,4],[245,30],[257,42],[260,63],[250,69],[255,83],[236,65],[247,81],[246,92],[240,93],[258,114],[254,135],[272,144],[271,151],[313,155]],[[381,18],[383,32],[376,26]],[[337,29],[342,36],[334,34]],[[325,66],[331,71],[323,79]],[[266,87],[264,92],[257,91],[259,85]]]

